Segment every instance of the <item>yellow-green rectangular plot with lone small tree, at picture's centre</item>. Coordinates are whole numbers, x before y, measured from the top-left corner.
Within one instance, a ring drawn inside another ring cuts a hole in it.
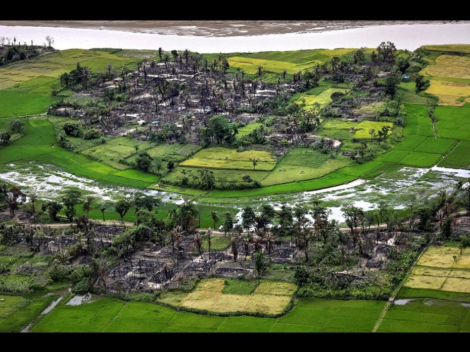
[[[253,167],[253,159],[257,161],[255,167]],[[271,153],[264,150],[237,152],[237,149],[209,147],[201,150],[179,165],[214,169],[270,171],[274,168],[275,164],[276,161]]]

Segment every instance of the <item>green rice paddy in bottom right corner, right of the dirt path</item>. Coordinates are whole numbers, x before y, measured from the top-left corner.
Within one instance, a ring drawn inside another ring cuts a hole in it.
[[[392,305],[379,332],[468,332],[470,309],[460,303],[432,298]]]

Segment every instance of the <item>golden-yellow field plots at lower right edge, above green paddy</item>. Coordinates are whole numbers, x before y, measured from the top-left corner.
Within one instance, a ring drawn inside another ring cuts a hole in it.
[[[470,293],[470,248],[429,247],[404,286]]]

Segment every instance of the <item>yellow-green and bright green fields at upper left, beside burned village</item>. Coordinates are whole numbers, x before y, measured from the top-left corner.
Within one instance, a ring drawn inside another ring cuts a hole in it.
[[[6,65],[0,68],[0,117],[44,113],[51,103],[63,98],[51,95],[52,86],[58,85],[59,76],[73,70],[77,63],[92,72],[102,72],[108,63],[119,70],[136,61],[102,51],[68,49]]]

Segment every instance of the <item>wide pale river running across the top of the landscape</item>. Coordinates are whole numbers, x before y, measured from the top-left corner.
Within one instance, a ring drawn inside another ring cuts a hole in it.
[[[1,24],[2,22],[0,22]],[[346,28],[312,33],[282,33],[246,36],[166,35],[119,30],[64,27],[0,25],[0,37],[16,37],[17,42],[41,44],[46,35],[54,37],[57,49],[116,47],[123,49],[183,50],[199,53],[235,53],[334,49],[338,47],[376,47],[392,41],[397,48],[414,50],[424,44],[470,44],[470,24],[429,23],[393,24]]]

